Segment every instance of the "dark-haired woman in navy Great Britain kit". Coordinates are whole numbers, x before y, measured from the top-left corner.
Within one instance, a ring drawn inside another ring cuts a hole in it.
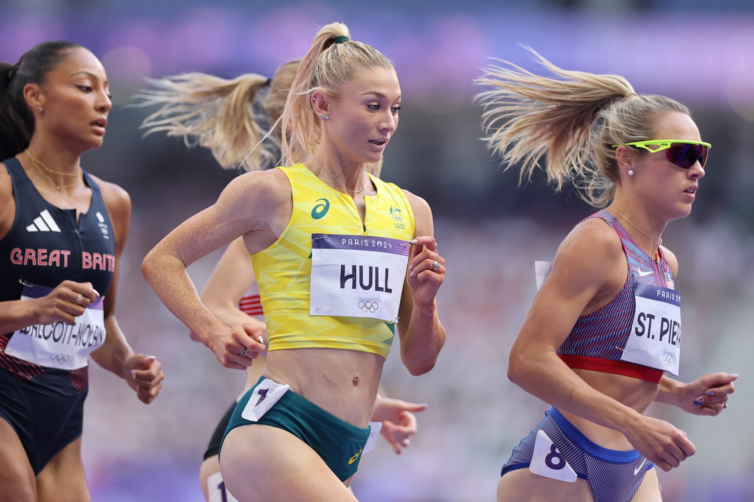
[[[90,500],[87,357],[150,403],[163,379],[115,320],[128,194],[81,169],[112,103],[89,50],[44,42],[0,64],[0,501]]]

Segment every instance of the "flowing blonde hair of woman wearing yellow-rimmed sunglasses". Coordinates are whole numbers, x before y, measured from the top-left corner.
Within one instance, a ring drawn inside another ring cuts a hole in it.
[[[477,95],[485,107],[483,139],[505,169],[520,165],[520,183],[547,155],[544,171],[556,190],[571,182],[584,200],[605,207],[621,178],[611,146],[653,139],[659,115],[690,112],[674,99],[636,94],[620,75],[564,70],[526,48],[555,78],[501,59],[505,66],[484,68],[475,82],[495,89]]]

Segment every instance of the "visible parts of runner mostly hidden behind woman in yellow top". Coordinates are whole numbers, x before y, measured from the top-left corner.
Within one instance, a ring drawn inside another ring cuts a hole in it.
[[[241,150],[238,151],[238,158],[228,157],[228,152],[223,149],[224,141],[219,141],[217,137],[213,137],[212,141],[207,141],[209,134],[216,132],[213,127],[216,124],[212,124],[211,121],[208,123],[206,119],[194,122],[191,117],[207,117],[228,102],[238,101],[246,103],[247,112],[253,114],[253,106],[261,101],[270,123],[276,123],[283,113],[288,92],[293,86],[293,79],[296,78],[300,63],[301,59],[286,62],[277,68],[273,78],[266,81],[265,77],[256,74],[245,74],[227,81],[203,73],[153,81],[152,88],[139,95],[139,104],[162,106],[159,111],[146,118],[145,127],[165,130],[172,135],[182,135],[187,143],[198,138],[203,141],[205,147],[216,154],[223,168],[235,169],[241,161],[248,160],[244,159],[248,152]],[[265,81],[266,92],[263,92],[264,90],[259,86],[261,81]],[[243,90],[243,92],[238,94],[236,90]],[[260,93],[263,93],[264,98],[258,100],[257,98],[261,97]],[[280,127],[274,130],[275,139],[280,141],[282,138]],[[224,157],[223,154],[225,154]],[[301,157],[305,156],[299,155],[299,158]],[[243,169],[244,172],[256,170],[252,169],[249,162],[244,163]],[[379,166],[373,167],[372,174],[379,176],[379,170]],[[228,326],[253,324],[262,327],[262,338],[267,339],[267,327],[264,322],[259,288],[256,285],[254,270],[243,237],[231,242],[220,257],[202,291],[201,301],[222,323]],[[201,341],[196,333],[191,333],[191,335],[192,339]],[[236,502],[235,497],[225,488],[225,482],[220,473],[218,459],[220,443],[238,400],[256,385],[265,370],[265,364],[266,353],[260,352],[254,364],[246,370],[241,396],[233,401],[228,411],[222,416],[204,452],[199,478],[204,497],[208,502],[219,502],[219,500]],[[417,432],[414,413],[421,412],[426,407],[425,404],[407,403],[377,394],[371,419],[382,423],[380,434],[391,444],[394,452],[400,455],[401,448],[409,446],[409,438]]]

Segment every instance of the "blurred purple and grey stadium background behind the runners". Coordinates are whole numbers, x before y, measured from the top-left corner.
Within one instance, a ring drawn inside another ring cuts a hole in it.
[[[395,348],[383,378],[389,395],[430,407],[403,455],[384,441],[366,455],[354,481],[359,500],[494,500],[501,465],[543,416],[544,403],[508,382],[507,353],[535,293],[533,261],[550,260],[592,209],[570,191],[553,194],[541,175],[516,187],[516,174],[501,172],[478,139],[480,108],[472,98],[480,89],[471,81],[488,56],[534,69],[519,43],[562,68],[618,73],[639,93],[685,102],[713,144],[694,211],[670,224],[664,241],[681,264],[681,379],[716,371],[740,378],[730,409],[717,418],[661,404],[651,414],[681,427],[697,446],[682,467],[660,473],[664,500],[754,500],[749,0],[0,0],[0,61],[17,62],[40,41],[77,41],[103,61],[115,95],[105,145],[85,154],[83,165],[133,199],[118,320],[136,351],[158,356],[167,378],[158,400],[143,406],[93,365],[84,422],[93,500],[204,500],[201,454],[243,383],[241,372],[225,370],[189,340],[139,270],[147,251],[210,205],[235,173],[175,138],[142,138],[147,111],[124,105],[147,76],[271,75],[305,53],[317,26],[335,20],[396,63],[403,108],[383,178],[430,202],[449,269],[439,299],[448,342],[437,366],[412,377]],[[189,269],[198,288],[219,252]]]

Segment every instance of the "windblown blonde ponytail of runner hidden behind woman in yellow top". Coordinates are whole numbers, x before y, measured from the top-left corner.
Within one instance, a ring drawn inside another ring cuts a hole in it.
[[[169,136],[182,136],[186,146],[209,148],[223,169],[260,169],[274,156],[274,148],[262,142],[253,106],[268,85],[266,77],[249,73],[225,80],[187,73],[150,84],[151,89],[136,96],[136,105],[162,107],[143,121],[146,134],[167,131]],[[271,139],[274,142],[274,136]]]

